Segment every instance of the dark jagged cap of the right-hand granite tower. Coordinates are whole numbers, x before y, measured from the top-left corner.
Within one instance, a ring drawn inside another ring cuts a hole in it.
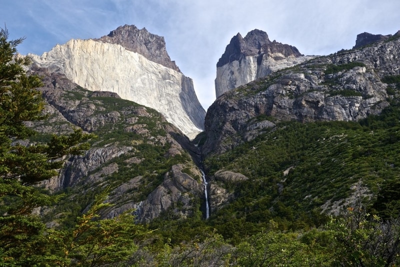
[[[230,39],[229,44],[225,48],[225,52],[219,58],[216,66],[223,66],[226,63],[234,60],[239,60],[243,56],[252,56],[272,53],[281,53],[285,57],[294,55],[301,56],[302,54],[294,46],[282,44],[275,40],[270,41],[268,34],[259,29],[249,31],[244,38],[237,33]]]

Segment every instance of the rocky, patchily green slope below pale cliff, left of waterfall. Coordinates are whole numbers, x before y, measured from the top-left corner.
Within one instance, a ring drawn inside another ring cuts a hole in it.
[[[41,186],[53,192],[69,188],[65,201],[74,204],[79,195],[110,188],[108,201],[113,206],[103,217],[131,208],[143,222],[163,212],[177,217],[199,212],[198,199],[204,193],[194,163],[198,151],[161,114],[113,92],[85,90],[47,69],[32,68],[31,73],[43,77],[39,90],[48,115],[46,120],[27,122],[39,132],[36,139],[69,133],[75,127],[98,136],[85,154],[66,158],[60,175]]]

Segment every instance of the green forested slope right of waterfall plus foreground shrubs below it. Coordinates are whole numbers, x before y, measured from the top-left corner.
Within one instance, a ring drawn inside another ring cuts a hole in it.
[[[242,266],[398,264],[398,118],[400,105],[392,101],[380,115],[359,122],[281,122],[205,158],[209,175],[225,169],[249,180],[219,183],[234,200],[208,220],[165,214],[152,221],[160,241],[154,249],[162,246],[164,259],[181,266],[211,262],[201,253],[207,248],[223,264]],[[356,188],[371,196],[362,199]],[[356,201],[346,204],[350,196]],[[325,215],[323,204],[342,205],[340,214]]]

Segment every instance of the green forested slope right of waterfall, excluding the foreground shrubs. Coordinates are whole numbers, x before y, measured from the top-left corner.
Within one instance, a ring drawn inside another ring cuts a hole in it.
[[[232,218],[237,229],[265,227],[268,219],[281,230],[322,225],[327,218],[316,215],[319,207],[348,197],[352,185],[361,181],[377,193],[377,185],[398,179],[399,115],[392,103],[381,115],[360,122],[282,122],[205,159],[208,173],[226,169],[249,178],[225,184],[236,200],[212,214],[210,222],[215,220],[217,229]]]

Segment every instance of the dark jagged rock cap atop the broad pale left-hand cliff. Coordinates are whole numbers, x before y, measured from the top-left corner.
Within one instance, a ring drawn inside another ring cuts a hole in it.
[[[138,29],[135,25],[125,24],[94,40],[122,45],[148,60],[180,71],[166,52],[164,37],[152,34],[146,28]]]

